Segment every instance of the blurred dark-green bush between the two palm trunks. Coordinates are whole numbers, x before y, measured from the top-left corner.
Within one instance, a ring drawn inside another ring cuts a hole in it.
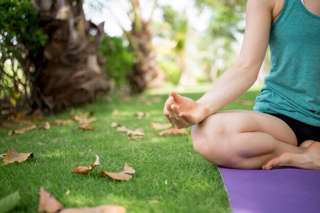
[[[100,53],[107,59],[105,70],[116,88],[127,84],[126,76],[133,68],[134,55],[123,45],[123,38],[106,36],[102,39]]]

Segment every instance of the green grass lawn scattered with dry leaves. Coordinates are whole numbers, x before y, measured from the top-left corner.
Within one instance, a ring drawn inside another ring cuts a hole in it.
[[[202,87],[202,91],[197,90]],[[179,89],[196,100],[208,89],[202,87]],[[20,203],[11,212],[37,212],[43,186],[64,207],[113,204],[124,206],[129,213],[230,212],[217,167],[195,153],[190,136],[153,136],[158,131],[152,129],[150,122],[167,123],[163,105],[169,89],[148,90],[129,100],[113,94],[112,102],[101,99],[46,118],[53,122],[93,111],[97,121],[92,131],[77,130],[76,122],[12,136],[8,136],[9,129],[0,128],[0,154],[10,147],[34,154],[34,158],[25,162],[0,167],[0,199],[19,191]],[[224,110],[252,110],[252,106],[241,105],[239,100],[254,101],[257,94],[258,87],[250,89]],[[161,101],[146,105],[141,97],[146,100],[158,97]],[[119,110],[119,115],[112,115],[114,109]],[[151,116],[137,120],[136,111],[149,112]],[[130,140],[125,132],[110,127],[112,122],[133,130],[143,128],[146,135]],[[187,131],[190,133],[191,128]],[[99,155],[100,165],[92,173],[72,174],[75,166],[94,163],[95,155]],[[98,174],[99,169],[121,172],[125,162],[136,170],[131,180],[101,178]]]

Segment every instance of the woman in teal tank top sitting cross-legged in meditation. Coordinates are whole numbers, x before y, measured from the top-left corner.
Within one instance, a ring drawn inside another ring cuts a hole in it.
[[[272,68],[254,111],[216,113],[257,80],[268,43]],[[248,0],[236,64],[196,102],[170,92],[164,114],[194,125],[194,149],[214,164],[320,170],[320,1]]]

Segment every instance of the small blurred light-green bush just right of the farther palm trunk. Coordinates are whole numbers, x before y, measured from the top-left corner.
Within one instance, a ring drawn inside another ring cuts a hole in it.
[[[166,81],[172,84],[178,84],[181,76],[181,68],[172,60],[163,60],[158,62],[159,66],[166,74]]]

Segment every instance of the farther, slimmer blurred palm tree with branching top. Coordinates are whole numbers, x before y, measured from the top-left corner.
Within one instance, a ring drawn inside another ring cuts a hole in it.
[[[127,14],[127,19],[131,23],[131,29],[126,30],[120,23],[119,17],[114,14],[109,7],[109,0],[88,0],[91,5],[100,4],[108,9],[113,19],[118,23],[123,31],[123,35],[129,41],[129,46],[134,54],[134,64],[132,72],[129,72],[127,79],[131,85],[132,93],[140,93],[147,87],[162,84],[164,81],[164,73],[155,61],[155,53],[152,47],[152,32],[151,32],[151,18],[153,11],[157,6],[157,0],[153,1],[150,16],[148,18],[142,17],[142,10],[139,0],[128,0],[128,5],[125,7],[120,0],[119,6]]]

